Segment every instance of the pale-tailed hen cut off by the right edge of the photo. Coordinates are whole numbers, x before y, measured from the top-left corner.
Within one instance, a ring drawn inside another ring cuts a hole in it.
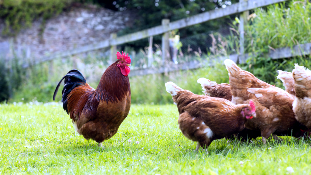
[[[311,71],[295,64],[293,70],[296,93],[293,110],[296,119],[311,129]]]

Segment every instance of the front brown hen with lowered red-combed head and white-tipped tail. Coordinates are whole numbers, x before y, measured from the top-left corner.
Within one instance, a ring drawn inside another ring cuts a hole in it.
[[[172,82],[165,83],[165,87],[178,107],[179,129],[185,137],[198,142],[196,150],[243,130],[245,122],[256,117],[253,101],[234,105],[224,98],[193,94]]]

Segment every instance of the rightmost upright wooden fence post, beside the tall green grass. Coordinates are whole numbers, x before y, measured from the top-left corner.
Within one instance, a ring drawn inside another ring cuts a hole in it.
[[[247,5],[248,0],[240,0],[240,6],[245,6]],[[246,2],[246,3],[245,3]],[[245,50],[244,50],[244,26],[247,25],[247,17],[249,16],[249,11],[245,11],[240,13],[240,25],[239,25],[239,32],[240,32],[240,55],[243,55]],[[244,58],[239,58],[239,63],[245,62]]]

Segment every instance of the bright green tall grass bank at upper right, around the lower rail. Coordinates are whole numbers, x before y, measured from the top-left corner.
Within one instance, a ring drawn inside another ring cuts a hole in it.
[[[280,3],[268,6],[267,10],[255,9],[254,13],[256,15],[250,16],[250,25],[246,26],[245,52],[258,56],[250,58],[243,68],[267,83],[284,88],[274,78],[276,70],[291,72],[294,63],[310,68],[310,59],[297,57],[272,60],[267,53],[276,48],[292,48],[293,45],[311,42],[311,2]]]

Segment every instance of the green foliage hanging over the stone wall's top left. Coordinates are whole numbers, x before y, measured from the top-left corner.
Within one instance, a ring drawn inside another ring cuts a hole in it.
[[[23,27],[30,27],[38,18],[42,18],[44,26],[45,20],[58,15],[71,2],[72,0],[3,0],[0,18],[4,19],[6,26],[2,34],[16,35]]]

